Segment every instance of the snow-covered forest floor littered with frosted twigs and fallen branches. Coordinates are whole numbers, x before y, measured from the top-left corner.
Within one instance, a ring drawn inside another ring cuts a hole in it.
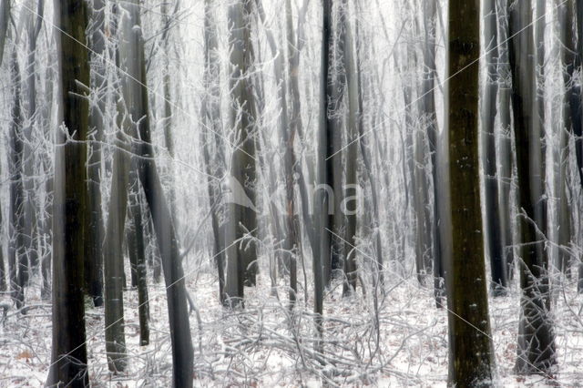
[[[283,283],[278,299],[271,292],[267,271],[260,275],[256,288],[246,288],[246,306],[241,311],[220,307],[218,282],[210,266],[190,268],[187,273],[187,287],[197,306],[197,311],[190,313],[197,386],[321,386],[324,381],[331,386],[445,386],[446,311],[435,308],[433,292],[420,287],[414,276],[401,280],[387,276],[390,281],[385,295],[377,298],[374,293],[363,296],[360,291],[342,298],[342,285],[333,283],[324,306],[325,351],[316,356],[312,352],[316,338],[312,291],[306,304],[302,271],[293,314]],[[8,311],[0,325],[0,387],[40,387],[45,382],[50,364],[51,307],[40,300],[38,289],[33,284],[27,291],[30,309],[26,315]],[[506,297],[490,299],[496,385],[583,386],[583,296],[578,296],[576,285],[571,283],[556,290],[555,380],[513,373],[518,293],[511,290]],[[93,386],[170,386],[171,348],[163,282],[149,285],[149,297],[150,344],[140,347],[138,292],[125,292],[128,371],[118,375],[107,371],[103,309],[87,310]]]

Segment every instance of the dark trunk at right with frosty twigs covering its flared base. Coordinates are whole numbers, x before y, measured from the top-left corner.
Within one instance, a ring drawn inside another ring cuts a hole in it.
[[[549,294],[545,248],[544,172],[537,117],[537,78],[532,8],[518,2],[509,9],[510,66],[512,69],[517,171],[520,190],[519,262],[521,312],[516,371],[520,374],[551,373],[557,362],[555,334],[548,315]],[[518,34],[518,32],[520,32]]]

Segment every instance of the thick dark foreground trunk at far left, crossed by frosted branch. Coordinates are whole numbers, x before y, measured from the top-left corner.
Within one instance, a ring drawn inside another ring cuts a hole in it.
[[[86,42],[87,4],[61,0],[54,6],[61,84],[59,121],[63,126],[58,129],[56,139],[53,344],[46,383],[77,387],[89,384],[82,291],[89,107],[87,98],[80,97],[89,87],[89,56],[87,48],[78,44]]]

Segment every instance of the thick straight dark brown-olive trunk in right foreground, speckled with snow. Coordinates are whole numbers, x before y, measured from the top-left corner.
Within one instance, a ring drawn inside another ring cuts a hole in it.
[[[453,245],[447,274],[449,384],[491,386],[496,370],[481,233],[478,77],[479,1],[449,3],[449,191]],[[464,69],[464,71],[460,71]]]

